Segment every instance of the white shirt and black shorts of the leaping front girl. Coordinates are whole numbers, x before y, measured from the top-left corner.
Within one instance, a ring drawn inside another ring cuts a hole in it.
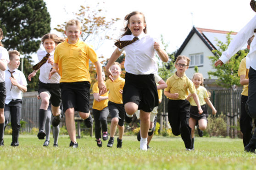
[[[120,41],[133,40],[134,35],[125,35]],[[134,102],[145,112],[151,112],[158,106],[158,96],[154,74],[157,74],[157,62],[154,43],[156,40],[142,32],[138,40],[119,49],[125,51],[125,85],[123,103]],[[161,44],[161,48],[163,48]]]

